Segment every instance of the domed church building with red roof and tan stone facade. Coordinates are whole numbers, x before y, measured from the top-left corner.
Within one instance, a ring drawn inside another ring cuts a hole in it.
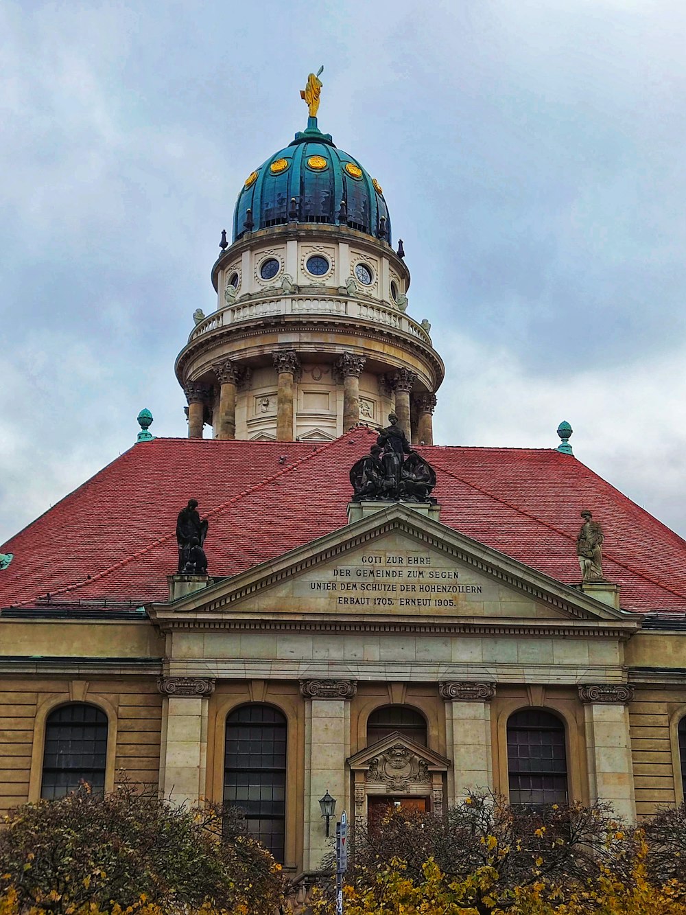
[[[318,129],[320,89],[241,188],[217,310],[177,358],[188,438],[141,414],[133,447],[2,547],[0,806],[125,775],[240,804],[295,877],[329,847],[327,791],[353,823],[473,789],[628,820],[681,802],[686,544],[565,425],[558,448],[434,446],[443,363],[381,185]],[[435,504],[351,501],[391,411]],[[191,498],[209,576],[177,571]],[[605,542],[582,580],[585,510]]]

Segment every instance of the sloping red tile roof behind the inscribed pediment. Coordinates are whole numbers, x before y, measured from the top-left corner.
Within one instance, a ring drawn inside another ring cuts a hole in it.
[[[59,600],[166,599],[177,512],[209,517],[213,576],[230,576],[347,523],[348,469],[375,434],[298,442],[156,438],[135,445],[9,540],[0,607]],[[686,612],[686,543],[576,458],[533,448],[422,447],[441,521],[567,584],[588,508],[606,534],[604,572],[622,607]],[[280,463],[280,458],[285,458]]]

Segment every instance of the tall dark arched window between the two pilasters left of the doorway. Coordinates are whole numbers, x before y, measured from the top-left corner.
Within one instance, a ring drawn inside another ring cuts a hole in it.
[[[286,719],[271,705],[241,705],[226,719],[224,801],[284,862]]]

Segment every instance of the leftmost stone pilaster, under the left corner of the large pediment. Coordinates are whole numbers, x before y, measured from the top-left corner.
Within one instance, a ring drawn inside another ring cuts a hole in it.
[[[161,677],[162,712],[160,790],[177,804],[198,803],[206,796],[208,705],[214,680]]]

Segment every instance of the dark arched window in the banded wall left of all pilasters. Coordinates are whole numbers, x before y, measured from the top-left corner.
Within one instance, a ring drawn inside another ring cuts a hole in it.
[[[42,798],[62,798],[87,781],[104,791],[107,716],[95,705],[72,702],[50,712],[45,727]]]

